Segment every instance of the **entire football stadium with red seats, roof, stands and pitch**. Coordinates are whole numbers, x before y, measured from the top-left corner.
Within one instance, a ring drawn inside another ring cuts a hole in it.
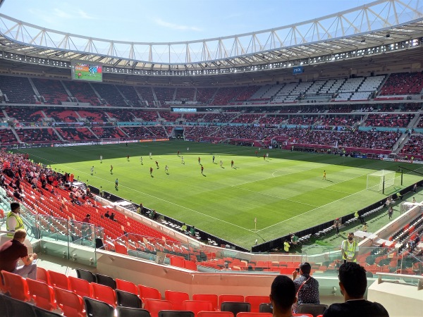
[[[347,299],[421,316],[421,1],[170,43],[53,30],[7,2],[1,316],[291,316],[269,294],[298,273],[292,316]]]

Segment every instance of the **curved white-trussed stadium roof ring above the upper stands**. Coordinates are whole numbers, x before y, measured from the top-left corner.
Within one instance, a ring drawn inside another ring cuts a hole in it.
[[[258,77],[257,73],[269,76],[274,70],[319,64],[327,69],[332,61],[373,59],[393,51],[416,49],[422,54],[422,39],[419,0],[379,0],[294,25],[172,43],[72,35],[0,14],[0,58],[55,68],[70,68],[72,61],[102,63],[104,73],[142,77],[238,77],[237,73]]]

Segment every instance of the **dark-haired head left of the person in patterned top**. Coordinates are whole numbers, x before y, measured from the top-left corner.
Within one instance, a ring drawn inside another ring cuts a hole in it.
[[[295,284],[286,275],[278,275],[271,283],[270,302],[274,312],[286,313],[296,301]]]

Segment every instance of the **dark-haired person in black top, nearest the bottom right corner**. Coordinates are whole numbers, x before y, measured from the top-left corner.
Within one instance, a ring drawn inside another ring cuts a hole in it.
[[[344,303],[331,304],[324,317],[388,317],[388,311],[379,303],[364,299],[367,288],[366,270],[357,263],[343,263],[339,268],[339,287]]]

